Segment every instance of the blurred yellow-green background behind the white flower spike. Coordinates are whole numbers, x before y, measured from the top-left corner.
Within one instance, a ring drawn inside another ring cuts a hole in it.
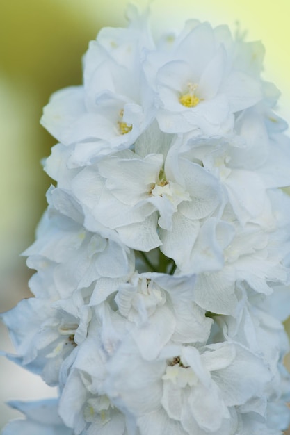
[[[136,1],[145,6],[147,1]],[[102,26],[126,23],[124,0],[0,0],[0,311],[29,295],[29,272],[19,258],[33,241],[45,208],[48,177],[40,158],[55,140],[39,125],[42,106],[51,92],[81,83],[81,55]],[[280,113],[290,120],[290,6],[287,0],[156,0],[152,22],[156,32],[187,18],[211,24],[236,22],[248,40],[266,47],[264,78],[282,91]],[[188,54],[189,56],[189,54]],[[5,330],[0,347],[12,350]],[[3,343],[3,344],[2,344]],[[50,394],[13,363],[0,360],[0,427],[11,416],[3,400]]]

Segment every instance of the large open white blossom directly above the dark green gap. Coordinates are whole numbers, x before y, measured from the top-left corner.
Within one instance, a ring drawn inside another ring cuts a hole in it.
[[[190,251],[200,220],[216,211],[223,195],[216,178],[200,165],[175,161],[170,150],[165,152],[167,156],[150,153],[140,158],[137,152],[121,151],[76,174],[72,192],[83,206],[86,227],[88,222],[92,229],[93,222],[101,223],[115,229],[122,243],[142,251],[172,244],[167,239],[177,239],[176,233],[182,237],[186,227],[183,237],[190,228]],[[160,237],[158,227],[166,230]],[[171,255],[164,253],[173,259],[178,255],[175,249]]]

